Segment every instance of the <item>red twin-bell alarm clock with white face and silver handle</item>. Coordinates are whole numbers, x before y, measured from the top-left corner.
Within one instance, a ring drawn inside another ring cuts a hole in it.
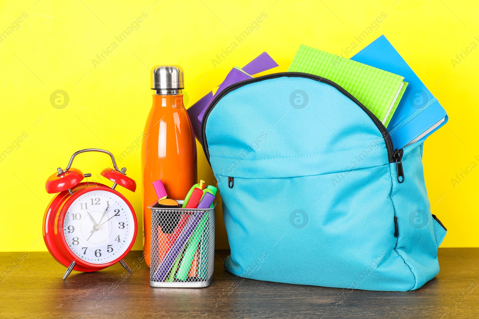
[[[76,155],[102,152],[110,155],[114,168],[105,168],[101,175],[113,181],[112,187],[100,183],[82,182],[79,169],[71,167]],[[63,280],[71,271],[92,272],[117,262],[131,274],[123,261],[137,236],[137,216],[128,200],[115,190],[117,185],[134,192],[137,184],[127,177],[126,168],[116,166],[113,154],[90,148],[76,152],[65,170],[46,180],[50,201],[43,217],[43,238],[46,247],[58,263],[68,267]]]

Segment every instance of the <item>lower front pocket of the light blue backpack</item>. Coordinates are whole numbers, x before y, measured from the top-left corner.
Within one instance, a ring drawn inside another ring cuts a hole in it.
[[[226,269],[292,284],[411,289],[414,276],[394,250],[388,165],[338,176],[235,177],[233,188],[216,176],[231,248]]]

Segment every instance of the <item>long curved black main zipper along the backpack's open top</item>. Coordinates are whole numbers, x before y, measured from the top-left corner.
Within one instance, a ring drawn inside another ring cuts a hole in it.
[[[259,82],[259,81],[263,81],[263,80],[267,80],[267,79],[271,79],[271,78],[276,78],[276,77],[306,77],[306,78],[310,78],[312,80],[316,80],[316,81],[331,85],[332,87],[334,87],[338,91],[340,91],[342,94],[344,94],[346,97],[351,99],[354,103],[356,103],[359,107],[361,107],[361,109],[363,109],[366,112],[366,114],[371,118],[371,120],[374,121],[377,128],[379,129],[379,131],[383,135],[384,142],[386,143],[386,147],[388,149],[389,163],[396,162],[397,167],[398,168],[400,167],[401,172],[402,172],[402,162],[401,162],[402,149],[400,150],[401,151],[400,152],[401,157],[399,158],[399,162],[398,162],[398,161],[396,161],[396,158],[394,157],[395,151],[394,151],[394,147],[392,145],[391,135],[389,135],[388,130],[386,129],[384,124],[381,121],[379,121],[379,119],[376,117],[376,115],[374,115],[360,101],[358,101],[356,98],[354,98],[354,96],[352,96],[348,91],[346,91],[344,88],[340,87],[335,82],[333,82],[331,80],[328,80],[327,78],[324,78],[324,77],[318,77],[318,76],[315,76],[313,74],[303,73],[303,72],[279,72],[279,73],[263,75],[261,77],[249,78],[249,79],[242,80],[242,81],[239,81],[237,83],[231,84],[230,86],[224,88],[219,94],[217,94],[217,96],[211,101],[210,105],[208,105],[208,107],[206,108],[205,115],[203,116],[203,121],[201,122],[201,146],[203,146],[203,151],[205,152],[206,160],[208,161],[208,164],[210,165],[210,167],[211,167],[211,162],[210,162],[210,159],[209,159],[208,144],[207,144],[207,141],[206,141],[206,121],[208,119],[209,114],[211,113],[211,111],[215,107],[215,105],[218,103],[218,101],[222,97],[224,97],[226,94],[228,94],[229,92],[231,92],[232,90],[234,90],[236,88],[242,87],[242,86],[244,86],[246,84],[249,84],[249,83]],[[402,181],[404,181],[404,173],[402,172],[401,174],[402,174],[401,175],[402,176]],[[398,181],[399,181],[399,169],[398,169]],[[402,183],[402,182],[399,182],[399,183]]]

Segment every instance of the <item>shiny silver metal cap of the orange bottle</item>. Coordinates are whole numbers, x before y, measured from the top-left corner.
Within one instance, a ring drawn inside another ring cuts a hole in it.
[[[152,90],[181,90],[184,88],[181,66],[154,66],[151,69]]]

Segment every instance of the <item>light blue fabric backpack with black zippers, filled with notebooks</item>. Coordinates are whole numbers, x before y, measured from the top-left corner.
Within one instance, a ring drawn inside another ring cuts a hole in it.
[[[212,101],[202,144],[223,199],[238,276],[349,289],[418,289],[439,272],[422,144],[394,150],[384,125],[335,83],[285,72]]]

